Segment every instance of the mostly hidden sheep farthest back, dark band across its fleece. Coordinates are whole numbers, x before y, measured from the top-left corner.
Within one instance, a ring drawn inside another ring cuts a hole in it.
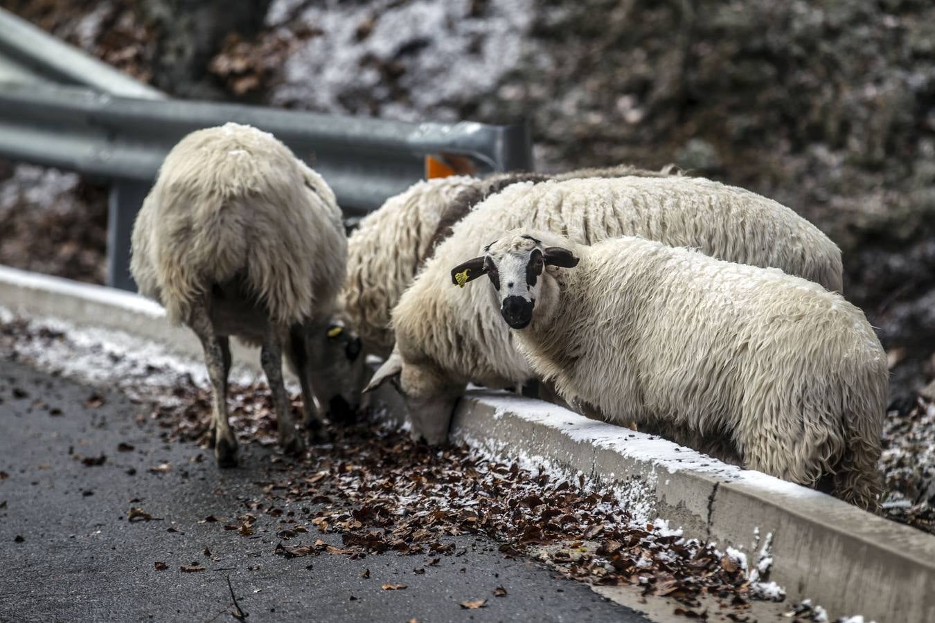
[[[620,165],[561,174],[439,177],[413,184],[361,219],[348,239],[348,274],[340,294],[346,319],[360,334],[368,353],[386,358],[395,341],[390,312],[423,262],[474,205],[524,181],[626,175],[661,177],[669,175],[669,169],[655,172]]]

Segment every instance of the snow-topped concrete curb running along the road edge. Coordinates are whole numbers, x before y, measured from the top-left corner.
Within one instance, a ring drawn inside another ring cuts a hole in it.
[[[0,305],[149,338],[200,357],[194,335],[135,294],[0,266]],[[237,348],[252,369],[258,358]],[[399,418],[401,402],[380,400]],[[935,536],[901,526],[809,488],[726,465],[640,432],[584,418],[554,404],[471,391],[453,436],[507,458],[539,461],[616,486],[645,517],[664,517],[686,536],[742,548],[755,564],[755,533],[772,533],[770,579],[789,602],[810,598],[833,616],[878,623],[935,620]]]

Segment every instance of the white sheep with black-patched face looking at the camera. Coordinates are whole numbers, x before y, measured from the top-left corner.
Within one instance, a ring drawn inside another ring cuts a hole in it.
[[[636,237],[587,247],[498,234],[455,266],[490,277],[519,350],[567,400],[611,421],[729,438],[749,469],[873,509],[886,355],[841,294],[778,269]]]

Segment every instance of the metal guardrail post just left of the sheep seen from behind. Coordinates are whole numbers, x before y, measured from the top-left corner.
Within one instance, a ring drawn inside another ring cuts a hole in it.
[[[108,286],[137,291],[130,276],[130,234],[150,185],[126,179],[110,187],[108,201]]]

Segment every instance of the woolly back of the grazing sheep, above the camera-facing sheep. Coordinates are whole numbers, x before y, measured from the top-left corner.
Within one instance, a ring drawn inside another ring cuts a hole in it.
[[[812,223],[755,192],[701,177],[514,185],[475,208],[453,234],[480,242],[519,227],[550,230],[587,245],[637,235],[842,289],[841,250]]]

